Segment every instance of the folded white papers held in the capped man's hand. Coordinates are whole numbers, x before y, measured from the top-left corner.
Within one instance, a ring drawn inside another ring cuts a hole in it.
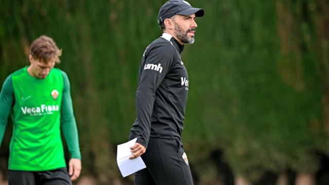
[[[137,138],[118,145],[117,162],[123,177],[146,168],[145,163],[141,157],[129,159],[130,156],[133,156],[130,147],[136,143],[136,140]]]

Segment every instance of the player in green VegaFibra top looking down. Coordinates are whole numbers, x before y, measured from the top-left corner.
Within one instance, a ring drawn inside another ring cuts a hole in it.
[[[78,131],[66,73],[55,64],[62,54],[48,36],[30,46],[30,65],[7,77],[0,93],[0,145],[9,114],[9,184],[72,184],[81,172]],[[61,130],[71,159],[66,170]]]

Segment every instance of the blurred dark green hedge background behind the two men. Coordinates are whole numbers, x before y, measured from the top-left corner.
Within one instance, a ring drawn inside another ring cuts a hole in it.
[[[45,34],[63,49],[80,135],[76,184],[132,184],[116,164],[135,119],[144,49],[166,1],[3,0],[0,82]],[[329,1],[191,0],[183,142],[195,184],[329,184]],[[0,107],[1,108],[1,107]],[[11,122],[0,150],[7,174]],[[69,157],[68,155],[66,156]]]

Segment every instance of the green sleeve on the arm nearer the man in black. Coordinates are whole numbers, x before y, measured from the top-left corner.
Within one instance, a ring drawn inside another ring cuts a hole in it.
[[[70,82],[64,71],[62,71],[64,90],[61,109],[61,127],[67,143],[71,158],[81,159],[78,129],[73,113],[72,99],[70,95]]]

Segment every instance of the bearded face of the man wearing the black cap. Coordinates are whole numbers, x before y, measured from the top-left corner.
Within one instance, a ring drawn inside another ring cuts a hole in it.
[[[193,44],[195,28],[195,14],[192,15],[175,15],[174,21],[174,34],[182,44]]]

